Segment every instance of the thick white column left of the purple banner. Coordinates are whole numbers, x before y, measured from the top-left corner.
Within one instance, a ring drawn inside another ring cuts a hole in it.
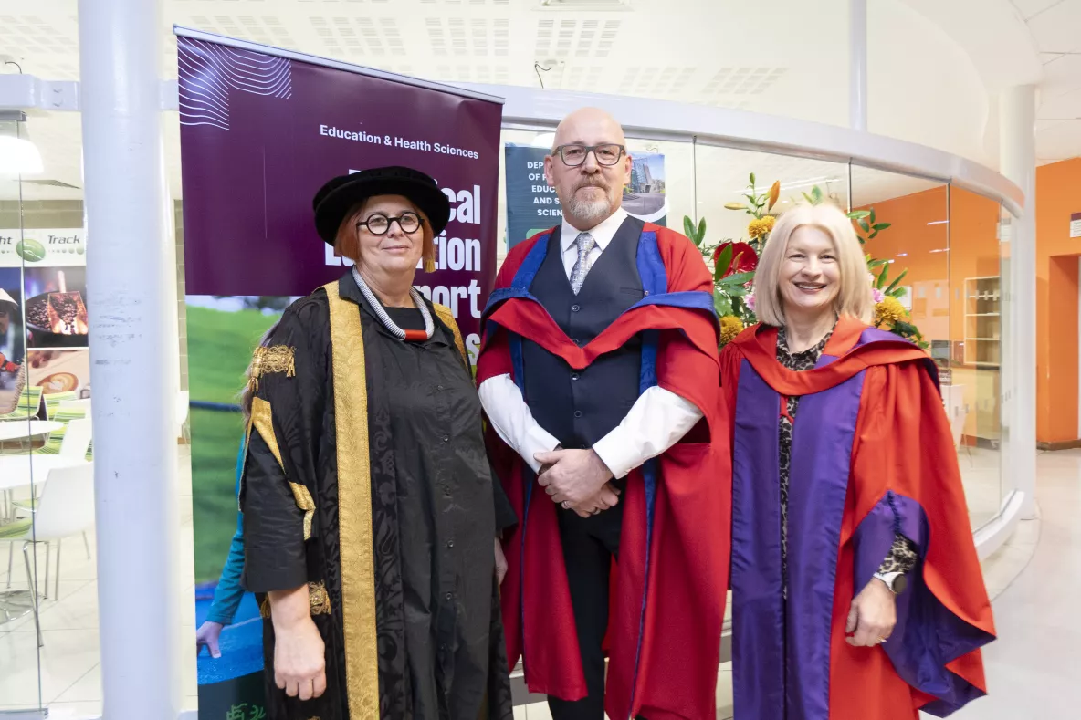
[[[79,0],[104,715],[181,704],[160,0]]]

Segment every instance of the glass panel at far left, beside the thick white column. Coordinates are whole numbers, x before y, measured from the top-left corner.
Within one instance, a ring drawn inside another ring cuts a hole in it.
[[[93,716],[91,301],[82,191],[59,179],[79,175],[79,117],[0,117],[0,135],[24,163],[0,157],[0,717]]]

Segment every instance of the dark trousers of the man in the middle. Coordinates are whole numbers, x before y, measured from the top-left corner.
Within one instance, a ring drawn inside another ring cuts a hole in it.
[[[589,696],[568,702],[548,697],[552,720],[604,720],[604,634],[609,619],[609,576],[619,555],[623,504],[591,518],[559,508],[559,534],[578,630],[582,669]]]

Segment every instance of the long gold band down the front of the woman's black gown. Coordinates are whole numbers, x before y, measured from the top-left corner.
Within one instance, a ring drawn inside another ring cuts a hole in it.
[[[331,310],[334,419],[337,424],[342,630],[349,718],[379,720],[364,339],[356,304],[342,299],[336,281],[325,285],[325,290]]]

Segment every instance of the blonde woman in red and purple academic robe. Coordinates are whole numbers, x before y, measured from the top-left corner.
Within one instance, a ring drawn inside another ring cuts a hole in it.
[[[782,216],[755,289],[721,354],[735,718],[948,716],[986,694],[995,628],[935,366],[867,324],[832,205]]]

